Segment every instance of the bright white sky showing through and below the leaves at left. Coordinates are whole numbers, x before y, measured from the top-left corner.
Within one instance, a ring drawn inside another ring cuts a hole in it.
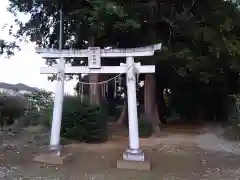
[[[0,38],[13,40],[8,35],[8,31],[3,30],[5,24],[14,24],[14,17],[6,8],[8,0],[0,0]],[[19,19],[27,21],[26,15],[19,14]],[[4,17],[4,18],[2,18]],[[35,44],[21,43],[21,51],[17,52],[11,58],[0,58],[0,82],[6,83],[24,83],[29,86],[44,88],[49,91],[55,91],[55,83],[47,80],[47,75],[40,74],[40,67],[45,66],[45,60],[35,52]],[[68,81],[65,85],[66,93],[73,93],[73,87],[76,81]]]

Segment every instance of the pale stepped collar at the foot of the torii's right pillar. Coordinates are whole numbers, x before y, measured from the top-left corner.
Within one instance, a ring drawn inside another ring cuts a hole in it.
[[[140,149],[127,149],[123,153],[123,160],[143,162],[145,160],[144,152]]]

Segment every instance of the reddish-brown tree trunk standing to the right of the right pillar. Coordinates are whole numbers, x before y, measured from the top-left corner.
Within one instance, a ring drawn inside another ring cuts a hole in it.
[[[154,133],[158,133],[160,129],[159,118],[156,108],[155,91],[156,91],[155,75],[146,74],[144,82],[144,112],[152,123]]]

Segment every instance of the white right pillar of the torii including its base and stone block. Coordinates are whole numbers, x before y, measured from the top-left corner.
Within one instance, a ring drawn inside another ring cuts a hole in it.
[[[150,170],[150,162],[145,159],[144,152],[139,147],[137,88],[134,58],[127,57],[127,98],[129,121],[129,148],[123,153],[123,160],[117,161],[117,168],[130,170]]]

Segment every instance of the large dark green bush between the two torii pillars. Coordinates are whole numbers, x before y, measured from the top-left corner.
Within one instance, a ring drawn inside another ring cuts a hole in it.
[[[61,136],[98,143],[107,140],[107,113],[97,105],[82,103],[79,97],[66,96],[63,102]]]

